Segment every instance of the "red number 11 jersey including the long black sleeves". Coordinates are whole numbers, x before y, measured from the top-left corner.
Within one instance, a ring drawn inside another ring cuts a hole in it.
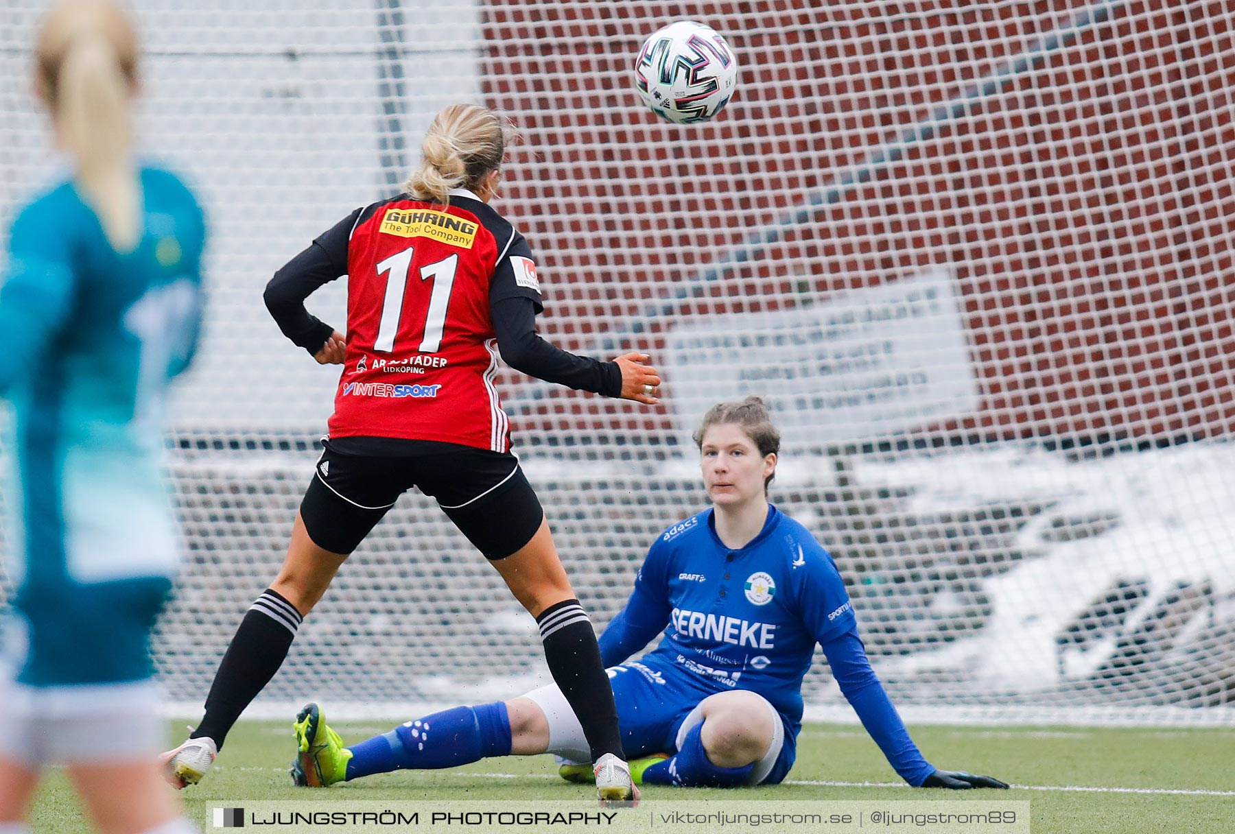
[[[275,274],[267,307],[310,353],[331,327],[308,313],[304,299],[345,271],[347,355],[331,438],[508,452],[510,421],[494,386],[499,341],[519,370],[608,396],[621,392],[615,363],[576,357],[536,336],[542,303],[531,250],[468,191],[452,191],[448,205],[400,195],[358,208]]]

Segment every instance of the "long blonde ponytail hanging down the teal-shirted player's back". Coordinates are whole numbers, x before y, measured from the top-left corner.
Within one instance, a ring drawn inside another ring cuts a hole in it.
[[[116,252],[132,252],[141,233],[141,192],[132,162],[128,85],[116,53],[95,32],[79,35],[61,62],[56,118],[78,165],[82,196]]]

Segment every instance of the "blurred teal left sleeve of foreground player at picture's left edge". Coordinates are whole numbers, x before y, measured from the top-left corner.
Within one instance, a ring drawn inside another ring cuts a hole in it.
[[[7,343],[0,363],[0,395],[35,366],[73,308],[74,271],[63,215],[43,217],[35,204],[16,221],[9,238],[9,265],[0,286],[0,334]]]

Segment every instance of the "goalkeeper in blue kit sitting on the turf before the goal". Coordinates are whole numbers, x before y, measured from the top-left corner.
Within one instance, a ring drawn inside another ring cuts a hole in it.
[[[767,501],[781,438],[762,400],[714,406],[695,442],[713,506],[656,539],[626,607],[600,637],[635,781],[722,787],[784,780],[802,729],[802,680],[818,643],[863,727],[909,785],[1008,787],[939,770],[910,739],[871,669],[831,556]],[[661,630],[653,651],[625,663]],[[309,704],[295,733],[293,780],[315,787],[487,756],[553,753],[588,761],[583,730],[556,686],[447,709],[351,748]],[[567,764],[561,772],[587,781],[592,769]]]

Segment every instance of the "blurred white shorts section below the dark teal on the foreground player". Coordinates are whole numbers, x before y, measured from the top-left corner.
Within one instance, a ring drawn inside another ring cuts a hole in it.
[[[0,758],[44,765],[151,760],[167,741],[153,681],[33,687],[0,665]]]

